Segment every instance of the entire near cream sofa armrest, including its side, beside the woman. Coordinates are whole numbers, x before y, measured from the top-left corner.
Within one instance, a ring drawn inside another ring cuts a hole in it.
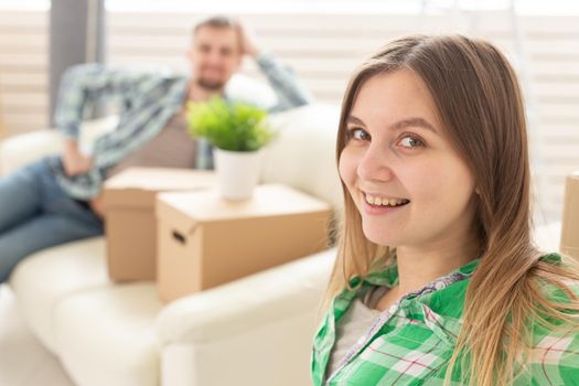
[[[312,336],[335,249],[168,305],[157,319],[161,385],[310,384]]]

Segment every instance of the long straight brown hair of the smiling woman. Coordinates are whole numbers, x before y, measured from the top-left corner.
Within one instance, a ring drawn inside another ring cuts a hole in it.
[[[361,87],[373,76],[403,68],[415,72],[428,87],[452,146],[475,176],[479,193],[475,227],[481,259],[467,291],[463,328],[447,382],[461,361],[463,380],[508,385],[515,371],[525,366],[529,318],[548,326],[557,320],[576,328],[577,321],[564,309],[579,310],[565,285],[579,280],[577,269],[539,260],[542,254],[532,242],[527,131],[516,75],[505,56],[481,40],[462,35],[398,39],[363,63],[350,82],[340,118],[337,161],[346,141],[345,121]],[[392,248],[365,238],[361,216],[343,183],[342,187],[344,216],[326,305],[350,278],[363,277],[394,259]],[[545,282],[564,290],[570,302],[549,301],[540,289]]]

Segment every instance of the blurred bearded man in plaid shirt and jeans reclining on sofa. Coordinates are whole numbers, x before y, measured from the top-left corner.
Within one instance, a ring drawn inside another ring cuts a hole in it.
[[[261,53],[237,21],[213,17],[199,23],[187,53],[190,77],[137,73],[88,64],[72,67],[61,83],[55,111],[64,136],[62,156],[49,157],[0,180],[0,283],[30,254],[103,234],[101,185],[125,168],[211,169],[211,147],[186,132],[186,101],[214,95],[253,57],[278,97],[271,110],[310,101],[293,74]],[[116,130],[98,138],[90,156],[78,147],[86,106],[115,100]]]

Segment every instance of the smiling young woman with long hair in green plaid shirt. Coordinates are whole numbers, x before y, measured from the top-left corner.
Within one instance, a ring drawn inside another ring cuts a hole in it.
[[[533,245],[523,99],[494,46],[388,44],[350,83],[336,150],[315,386],[579,385],[579,274]]]

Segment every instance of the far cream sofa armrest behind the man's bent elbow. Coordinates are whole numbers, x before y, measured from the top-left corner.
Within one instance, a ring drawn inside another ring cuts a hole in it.
[[[106,117],[83,124],[81,147],[90,143],[116,126],[117,117]],[[0,142],[0,175],[8,175],[21,167],[61,151],[62,139],[57,130],[42,129],[8,138]]]

